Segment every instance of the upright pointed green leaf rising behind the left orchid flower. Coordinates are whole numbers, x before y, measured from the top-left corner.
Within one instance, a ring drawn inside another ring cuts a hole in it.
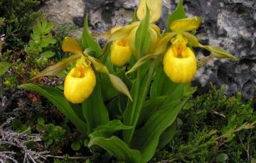
[[[92,36],[89,33],[88,14],[86,13],[84,28],[82,31],[82,48],[87,49],[88,47],[91,47],[93,50],[95,50],[96,57],[99,57],[100,54],[102,53],[102,49],[100,45],[95,40],[92,39]]]

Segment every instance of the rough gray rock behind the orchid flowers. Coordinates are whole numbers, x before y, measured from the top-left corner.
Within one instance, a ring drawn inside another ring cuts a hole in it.
[[[174,11],[178,0],[163,0],[162,18],[158,24],[166,28],[166,18]],[[113,26],[130,22],[138,0],[48,0],[42,7],[46,16],[56,25],[74,23],[80,27],[73,35],[80,37],[85,13],[89,13],[93,33],[104,33]],[[198,92],[208,90],[209,83],[226,85],[226,94],[242,91],[245,99],[252,98],[256,90],[256,1],[255,0],[184,0],[188,16],[203,19],[196,35],[201,43],[219,45],[240,59],[213,59],[198,69],[194,85]],[[206,50],[196,50],[198,58],[209,55]]]

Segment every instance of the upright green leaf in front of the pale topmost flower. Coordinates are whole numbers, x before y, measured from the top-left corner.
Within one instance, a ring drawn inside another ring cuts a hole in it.
[[[139,24],[139,28],[136,31],[135,36],[135,48],[139,58],[144,55],[149,49],[149,8],[146,6],[146,16],[142,19]]]

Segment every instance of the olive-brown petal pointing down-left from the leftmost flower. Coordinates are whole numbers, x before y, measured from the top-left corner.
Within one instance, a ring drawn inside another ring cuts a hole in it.
[[[46,67],[46,69],[43,69],[43,71],[36,74],[36,77],[33,77],[33,79],[43,76],[57,75],[58,73],[62,72],[63,69],[70,67],[70,65],[75,63],[75,61],[80,57],[81,55],[73,55],[71,57],[65,58],[53,66]]]

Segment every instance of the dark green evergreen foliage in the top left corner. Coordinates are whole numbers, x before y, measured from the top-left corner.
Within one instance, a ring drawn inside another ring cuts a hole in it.
[[[0,33],[5,34],[6,48],[16,50],[26,43],[33,26],[43,13],[35,11],[37,0],[1,0]]]

